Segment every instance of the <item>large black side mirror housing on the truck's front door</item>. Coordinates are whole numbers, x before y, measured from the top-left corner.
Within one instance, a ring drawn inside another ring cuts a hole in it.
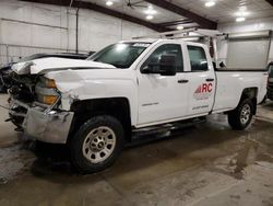
[[[159,61],[159,73],[162,76],[175,76],[177,70],[176,55],[162,55]]]

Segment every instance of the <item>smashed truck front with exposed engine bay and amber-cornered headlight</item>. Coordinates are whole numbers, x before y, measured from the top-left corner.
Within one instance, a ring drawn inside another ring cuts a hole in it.
[[[4,73],[3,83],[10,94],[10,118],[17,128],[23,130],[23,122],[28,107],[38,105],[45,110],[57,102],[58,92],[55,82],[41,75],[17,75],[10,70]]]

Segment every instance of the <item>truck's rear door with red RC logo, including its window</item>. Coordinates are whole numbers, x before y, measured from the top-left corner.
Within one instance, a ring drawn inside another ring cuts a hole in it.
[[[216,89],[214,68],[206,47],[188,43],[189,108],[188,115],[206,115],[212,111]]]

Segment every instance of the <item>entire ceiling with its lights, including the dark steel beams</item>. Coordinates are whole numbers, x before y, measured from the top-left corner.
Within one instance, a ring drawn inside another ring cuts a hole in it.
[[[141,24],[157,32],[181,27],[215,30],[217,23],[273,16],[273,0],[21,0],[80,9]],[[106,2],[111,3],[107,5]],[[214,7],[205,7],[207,2]],[[132,7],[129,7],[128,3]],[[147,19],[147,10],[153,14]],[[244,21],[244,20],[241,20]]]

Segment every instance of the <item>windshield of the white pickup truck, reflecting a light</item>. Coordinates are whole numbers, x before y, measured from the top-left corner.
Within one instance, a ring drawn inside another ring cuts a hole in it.
[[[88,60],[124,69],[129,68],[150,45],[150,43],[118,43],[94,54]]]

